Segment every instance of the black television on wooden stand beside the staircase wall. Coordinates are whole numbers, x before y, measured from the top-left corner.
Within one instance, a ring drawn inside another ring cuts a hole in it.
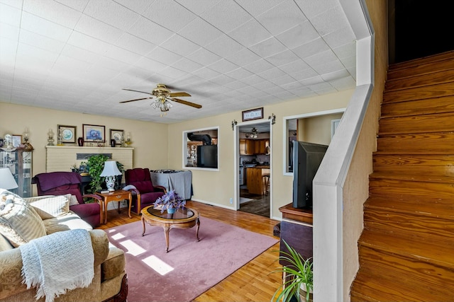
[[[294,208],[312,208],[312,181],[328,146],[306,141],[293,141],[293,203]]]

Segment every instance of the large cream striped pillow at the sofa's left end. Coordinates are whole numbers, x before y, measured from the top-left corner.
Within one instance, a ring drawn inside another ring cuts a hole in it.
[[[43,220],[17,194],[0,189],[0,233],[15,248],[46,235]]]

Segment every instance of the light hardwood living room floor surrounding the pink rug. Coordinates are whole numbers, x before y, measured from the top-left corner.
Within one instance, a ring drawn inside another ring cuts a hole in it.
[[[200,202],[190,201],[187,202],[187,206],[197,209],[201,216],[266,236],[272,236],[273,227],[279,222],[263,216],[223,209]],[[99,228],[112,228],[140,220],[140,216],[136,214],[131,213],[131,216],[133,218],[128,217],[125,209],[122,209],[121,214],[118,214],[116,210],[111,210],[107,213],[107,223],[99,226]],[[162,240],[164,240],[164,234],[162,234]],[[262,252],[262,254],[255,257],[255,259],[248,262],[226,279],[223,279],[223,281],[195,298],[194,301],[271,301],[273,294],[275,294],[276,289],[279,288],[282,282],[282,275],[280,273],[270,274],[270,272],[280,267],[277,261],[278,252],[275,252],[276,250],[279,250],[279,243]]]

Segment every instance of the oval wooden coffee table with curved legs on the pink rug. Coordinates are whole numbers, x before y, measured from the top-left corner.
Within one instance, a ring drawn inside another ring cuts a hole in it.
[[[199,212],[196,209],[182,207],[175,211],[175,214],[161,213],[160,209],[153,209],[153,206],[145,207],[140,211],[142,214],[143,233],[145,236],[145,221],[150,226],[161,226],[164,228],[165,251],[169,252],[169,232],[171,228],[192,228],[196,227],[196,238],[199,241]]]

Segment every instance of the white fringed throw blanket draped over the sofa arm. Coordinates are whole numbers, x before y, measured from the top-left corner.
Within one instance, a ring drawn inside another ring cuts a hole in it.
[[[19,247],[27,289],[36,286],[36,299],[46,302],[67,290],[87,287],[94,277],[92,238],[87,230],[52,233]]]

